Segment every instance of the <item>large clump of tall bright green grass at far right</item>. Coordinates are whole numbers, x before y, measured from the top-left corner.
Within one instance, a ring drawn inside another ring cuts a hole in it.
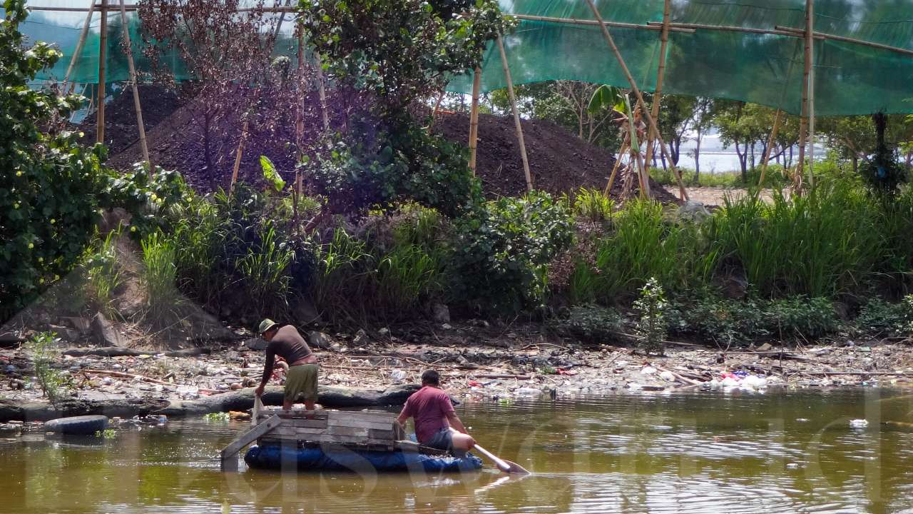
[[[830,296],[865,280],[883,254],[869,198],[841,182],[806,196],[775,193],[726,199],[713,218],[713,240],[736,259],[761,294]]]

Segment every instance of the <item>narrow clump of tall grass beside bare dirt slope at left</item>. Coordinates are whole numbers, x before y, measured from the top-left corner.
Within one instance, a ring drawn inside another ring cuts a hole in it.
[[[161,231],[155,231],[142,240],[141,246],[143,266],[140,281],[146,291],[143,317],[155,325],[173,323],[185,304],[184,296],[176,285],[174,242]]]

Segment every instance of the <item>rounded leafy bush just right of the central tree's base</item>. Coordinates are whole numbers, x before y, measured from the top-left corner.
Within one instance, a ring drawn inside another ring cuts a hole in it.
[[[488,202],[454,225],[451,294],[497,312],[540,305],[546,265],[573,241],[570,212],[542,192]]]

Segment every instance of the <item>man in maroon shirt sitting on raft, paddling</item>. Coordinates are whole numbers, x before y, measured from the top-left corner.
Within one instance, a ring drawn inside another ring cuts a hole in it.
[[[462,457],[476,445],[476,440],[459,421],[450,397],[441,390],[440,380],[434,369],[422,373],[422,389],[406,400],[396,421],[405,426],[406,420],[414,418],[415,438],[419,444]]]

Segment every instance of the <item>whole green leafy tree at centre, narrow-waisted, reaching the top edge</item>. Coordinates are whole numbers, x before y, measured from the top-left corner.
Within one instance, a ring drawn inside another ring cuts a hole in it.
[[[474,69],[509,29],[496,0],[304,0],[310,45],[337,87],[359,91],[360,119],[307,166],[329,211],[413,199],[456,215],[480,198],[465,150],[415,120],[450,74]]]

